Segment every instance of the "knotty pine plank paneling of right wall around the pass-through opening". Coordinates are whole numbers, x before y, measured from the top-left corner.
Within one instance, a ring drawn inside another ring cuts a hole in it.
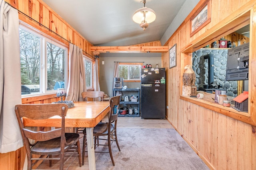
[[[239,12],[242,12],[243,10],[246,11],[250,8],[250,6],[253,3],[255,4],[255,1],[253,2],[252,0],[229,0],[229,1],[214,0],[214,3],[212,4],[212,22],[206,25],[205,29],[202,29],[192,37],[188,36],[188,34],[190,33],[190,27],[188,25],[188,22],[184,23],[182,27],[178,28],[180,31],[176,31],[174,35],[172,35],[172,37],[170,37],[170,39],[168,40],[169,47],[172,47],[174,43],[177,43],[178,44],[177,50],[179,51],[181,48],[186,47],[186,45],[188,45],[194,39],[198,39],[200,35],[204,34],[204,31],[211,29],[211,27],[214,27],[220,21],[225,20],[225,18],[229,16],[232,12],[238,11],[237,13],[239,13]],[[254,11],[255,11],[255,8],[256,7],[254,6]],[[250,23],[254,24],[254,29],[253,29],[254,31],[256,30],[255,19],[256,18],[254,18],[254,21],[250,21]],[[175,36],[178,35],[178,33],[180,33],[180,37],[177,40],[175,39]],[[254,36],[253,44],[256,44],[255,42],[256,34],[254,33],[252,36]],[[174,42],[173,40],[176,42]],[[251,40],[250,42],[252,43]],[[253,60],[252,63],[256,63],[255,53],[250,54],[250,56],[252,55],[253,55],[253,58],[250,60]],[[166,57],[166,55],[163,55],[163,56]],[[178,78],[177,81],[180,84],[182,84],[181,76],[184,72],[184,65],[189,64],[191,58],[192,58],[191,53],[181,53],[180,55],[177,55],[177,60],[180,60],[180,68],[177,68],[176,70],[174,70],[174,68],[171,68],[168,72],[170,76],[173,76],[172,73],[174,73],[174,71],[175,72],[179,71],[180,74],[177,75],[177,78]],[[166,59],[164,60],[166,61]],[[249,73],[249,75],[252,75],[252,74]],[[254,76],[254,78],[250,80],[253,80],[253,82],[256,82],[255,79],[256,78]],[[249,89],[254,88],[252,92],[252,96],[254,97],[250,96],[250,98],[252,98],[251,101],[255,101],[256,84],[250,82],[250,80],[249,80],[249,84],[250,84],[249,86],[253,86],[253,87],[249,87]],[[171,81],[168,81],[168,82],[171,83]],[[170,84],[170,86],[169,86],[170,88],[168,87],[168,90],[170,90],[170,92],[168,92],[169,96],[173,95],[174,94],[173,92],[175,92],[177,89],[176,87],[173,87],[172,84]],[[181,91],[182,88],[180,87],[179,89]],[[178,95],[179,94],[180,93],[178,93]],[[254,104],[254,103],[251,103],[251,104]],[[214,168],[216,169],[244,169],[244,168],[256,169],[255,165],[251,166],[251,164],[253,164],[252,158],[254,158],[256,155],[254,153],[254,151],[256,150],[256,147],[252,146],[253,144],[256,143],[255,141],[256,135],[255,134],[250,135],[248,133],[244,133],[243,131],[240,131],[240,129],[244,129],[244,131],[248,131],[249,129],[248,127],[251,127],[251,125],[243,123],[236,119],[230,118],[226,115],[222,115],[221,113],[217,113],[210,109],[206,109],[202,106],[196,106],[196,109],[194,109],[193,105],[194,104],[191,104],[190,102],[186,102],[178,99],[177,113],[176,113],[177,116],[174,117],[171,113],[168,113],[167,115],[170,115],[168,117],[168,120],[171,121],[171,123],[179,133],[182,133],[181,135],[184,137],[184,139],[186,139],[188,143],[191,143],[193,147],[197,149],[198,153],[202,154],[202,156],[204,157],[203,158],[204,161],[209,162],[210,167],[212,167],[213,169]],[[254,109],[254,112],[250,111],[250,113],[254,115],[254,113],[256,113],[255,107],[250,107],[250,108]],[[168,112],[171,112],[171,110],[168,110]],[[197,117],[193,117],[193,115],[196,115]],[[210,119],[211,116],[212,116],[212,120]],[[197,122],[194,121],[195,118],[197,118]],[[177,119],[177,120],[174,120],[174,119]],[[194,126],[193,123],[196,124],[196,126]],[[240,125],[240,123],[242,125]],[[206,130],[199,131],[199,129],[201,128]],[[197,130],[198,130],[198,133],[196,132]],[[195,133],[197,133],[198,136],[191,135]],[[196,139],[196,137],[198,137],[198,139]],[[241,145],[238,145],[239,140],[242,137],[246,139],[242,141]],[[195,140],[197,141],[195,142]],[[207,145],[207,143],[209,143],[209,145]],[[249,146],[250,151],[249,149],[246,149],[246,151],[243,152],[242,154],[243,156],[240,156],[240,153],[242,153],[242,148],[244,145]],[[240,150],[240,152],[238,150]],[[244,159],[247,157],[248,157],[248,160],[244,161]],[[247,164],[250,167],[244,166],[245,164]]]

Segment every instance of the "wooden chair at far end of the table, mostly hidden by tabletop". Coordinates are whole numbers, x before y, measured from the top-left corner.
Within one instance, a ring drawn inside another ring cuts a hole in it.
[[[84,101],[94,101],[97,98],[100,98],[100,101],[102,102],[104,99],[104,92],[101,91],[88,91],[88,92],[82,92],[82,98]],[[76,133],[83,133],[84,127],[77,127]]]

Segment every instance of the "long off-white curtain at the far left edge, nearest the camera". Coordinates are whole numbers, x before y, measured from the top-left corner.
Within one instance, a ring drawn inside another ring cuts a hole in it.
[[[18,11],[0,0],[0,153],[23,146],[16,104],[21,104]]]

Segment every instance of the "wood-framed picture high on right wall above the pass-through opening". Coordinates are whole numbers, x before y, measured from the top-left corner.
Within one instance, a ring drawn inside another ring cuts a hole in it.
[[[195,14],[190,18],[190,37],[200,31],[205,25],[211,21],[211,1],[206,0]]]

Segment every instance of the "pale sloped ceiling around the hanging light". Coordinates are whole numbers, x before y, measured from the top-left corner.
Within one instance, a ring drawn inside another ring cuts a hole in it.
[[[141,0],[43,0],[95,46],[129,46],[159,41],[186,0],[146,0],[156,20],[143,31],[132,20]]]

